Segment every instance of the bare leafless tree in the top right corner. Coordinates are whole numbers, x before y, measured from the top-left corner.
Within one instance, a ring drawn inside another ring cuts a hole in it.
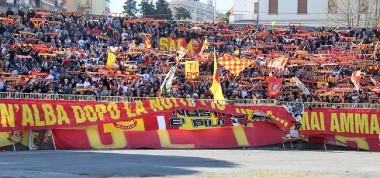
[[[380,0],[330,0],[324,24],[328,26],[376,27]]]

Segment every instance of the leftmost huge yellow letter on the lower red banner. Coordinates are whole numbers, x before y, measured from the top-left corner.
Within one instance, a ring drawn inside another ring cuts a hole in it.
[[[111,132],[104,133],[110,134],[112,137],[111,144],[103,144],[99,131],[97,129],[86,129],[87,137],[90,142],[91,148],[94,149],[121,149],[126,148],[128,146],[127,139],[125,138],[124,132]]]

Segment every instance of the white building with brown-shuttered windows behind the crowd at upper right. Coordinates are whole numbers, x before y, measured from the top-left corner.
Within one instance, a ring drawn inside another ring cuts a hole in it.
[[[368,0],[359,2],[368,9]],[[299,22],[302,26],[321,26],[328,24],[327,17],[335,15],[337,3],[338,0],[234,0],[230,23],[271,25],[276,21],[276,25]],[[361,13],[366,14],[366,9]]]

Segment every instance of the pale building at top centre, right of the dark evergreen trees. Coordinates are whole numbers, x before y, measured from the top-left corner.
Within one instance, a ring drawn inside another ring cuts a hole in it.
[[[188,12],[190,12],[192,19],[195,21],[214,20],[216,18],[224,16],[224,14],[215,10],[212,0],[208,0],[207,4],[204,4],[201,2],[194,2],[193,0],[172,0],[171,2],[169,2],[169,8],[173,12],[173,18],[175,14],[174,7],[185,8]],[[179,19],[175,19],[175,20],[179,20]]]

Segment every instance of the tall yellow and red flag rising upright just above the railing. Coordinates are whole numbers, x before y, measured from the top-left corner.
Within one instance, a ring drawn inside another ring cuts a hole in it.
[[[214,102],[219,104],[225,104],[223,92],[221,90],[220,79],[218,74],[218,63],[216,62],[216,52],[214,49],[214,75],[212,85],[210,87],[211,93],[214,95]]]

